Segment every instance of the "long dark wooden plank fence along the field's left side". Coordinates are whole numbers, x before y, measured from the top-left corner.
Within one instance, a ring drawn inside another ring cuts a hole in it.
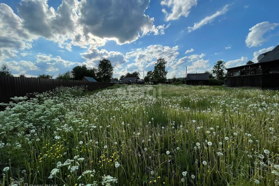
[[[113,83],[0,76],[0,103],[8,103],[12,97],[26,96],[28,93],[42,93],[60,86],[81,85],[87,85],[87,89],[92,91],[112,86]]]

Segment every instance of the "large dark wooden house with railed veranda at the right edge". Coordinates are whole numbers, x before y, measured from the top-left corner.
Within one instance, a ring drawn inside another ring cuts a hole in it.
[[[227,68],[227,86],[279,88],[279,45],[257,60],[254,64]]]

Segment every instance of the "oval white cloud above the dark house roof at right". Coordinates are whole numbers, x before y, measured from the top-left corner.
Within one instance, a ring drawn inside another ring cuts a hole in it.
[[[278,26],[278,23],[269,23],[267,21],[256,24],[249,29],[251,32],[246,37],[246,46],[249,48],[257,47],[262,45],[263,42],[267,42],[270,35],[264,38],[264,34],[273,30],[276,26]]]

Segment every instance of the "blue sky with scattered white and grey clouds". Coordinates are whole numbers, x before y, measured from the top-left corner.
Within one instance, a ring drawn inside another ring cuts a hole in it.
[[[0,65],[14,76],[112,62],[113,77],[153,70],[167,78],[257,62],[279,44],[279,1],[0,0]]]

